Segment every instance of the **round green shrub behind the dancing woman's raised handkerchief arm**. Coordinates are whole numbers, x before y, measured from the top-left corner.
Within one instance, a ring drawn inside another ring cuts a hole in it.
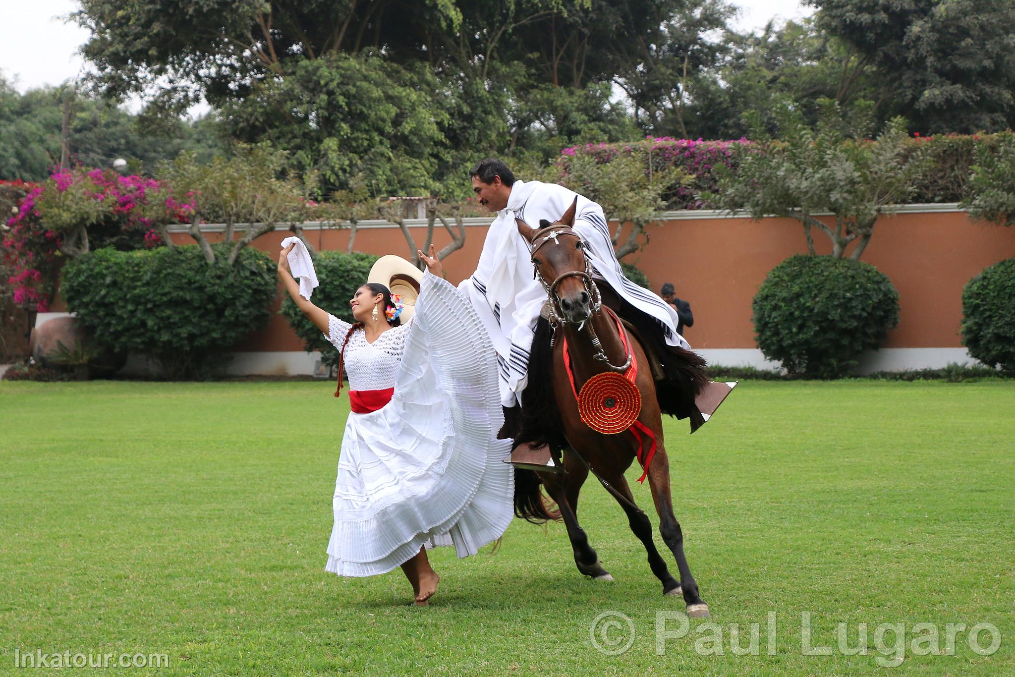
[[[315,306],[331,313],[336,318],[346,322],[355,322],[352,318],[349,299],[352,298],[356,289],[366,283],[370,266],[377,260],[378,257],[373,254],[359,252],[352,254],[318,252],[314,259],[314,271],[317,273],[320,284],[311,294],[311,300],[314,301]],[[338,351],[325,340],[321,330],[302,314],[289,294],[285,294],[285,298],[282,299],[282,310],[279,312],[289,321],[289,326],[303,342],[303,348],[307,352],[320,350],[321,360],[325,364],[331,367],[338,364]]]

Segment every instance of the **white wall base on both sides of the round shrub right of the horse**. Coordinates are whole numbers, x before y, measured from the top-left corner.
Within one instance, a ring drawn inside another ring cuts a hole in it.
[[[720,366],[753,366],[758,369],[779,369],[780,363],[765,359],[757,348],[703,348],[695,350]],[[905,369],[939,369],[952,362],[980,366],[965,348],[882,348],[872,350],[860,360],[860,374],[902,371]]]

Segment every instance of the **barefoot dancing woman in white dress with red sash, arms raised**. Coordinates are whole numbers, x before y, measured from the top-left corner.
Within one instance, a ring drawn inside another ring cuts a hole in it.
[[[425,606],[439,581],[426,548],[475,554],[513,517],[514,473],[501,462],[511,441],[496,438],[503,416],[489,337],[472,304],[443,278],[433,247],[428,257],[419,252],[427,272],[408,325],[382,284],[353,294],[356,324],[319,309],[289,272],[292,247],[279,256],[279,277],[341,352],[339,369],[349,377],[352,413],[325,569],[365,577],[401,566],[414,603]]]

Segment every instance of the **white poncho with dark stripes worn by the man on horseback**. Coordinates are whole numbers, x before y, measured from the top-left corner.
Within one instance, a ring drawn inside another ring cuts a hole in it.
[[[486,233],[476,272],[459,285],[493,341],[500,403],[505,407],[513,406],[525,390],[532,335],[546,301],[546,292],[533,279],[529,244],[519,233],[515,218],[538,228],[540,219],[552,222],[560,218],[576,195],[556,184],[516,181],[506,208],[497,213]],[[605,280],[624,300],[655,318],[669,345],[689,348],[677,333],[678,319],[673,307],[624,277],[610,242],[603,208],[581,195],[578,195],[574,230],[589,245],[594,277]]]

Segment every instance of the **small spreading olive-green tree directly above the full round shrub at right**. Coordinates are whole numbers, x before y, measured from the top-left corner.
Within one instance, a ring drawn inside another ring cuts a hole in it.
[[[736,151],[739,166],[718,167],[720,180],[715,193],[702,199],[724,209],[743,209],[752,218],[786,216],[804,226],[808,251],[815,255],[812,229],[823,232],[832,244],[832,257],[850,255],[859,260],[874,234],[882,214],[906,202],[928,161],[918,147],[910,151],[905,122],[896,118],[872,141],[870,106],[858,105],[843,115],[836,101],[819,101],[823,111],[817,129],[812,129],[799,112],[780,112],[780,136],[765,139],[760,116],[753,118],[755,143]],[[815,214],[830,212],[833,225]]]

